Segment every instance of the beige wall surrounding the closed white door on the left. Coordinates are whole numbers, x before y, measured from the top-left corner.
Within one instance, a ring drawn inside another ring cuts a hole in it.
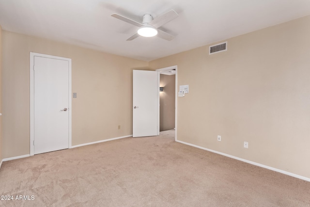
[[[72,59],[72,145],[132,134],[132,70],[147,62],[7,31],[2,47],[2,158],[30,153],[30,52]]]

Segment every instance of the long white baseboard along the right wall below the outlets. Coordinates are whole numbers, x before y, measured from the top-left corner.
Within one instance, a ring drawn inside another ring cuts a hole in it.
[[[176,142],[183,143],[183,144],[186,144],[186,145],[190,145],[190,146],[193,146],[193,147],[197,147],[197,148],[200,148],[200,149],[203,149],[203,150],[206,150],[206,151],[214,152],[214,153],[217,153],[217,154],[229,157],[229,158],[237,159],[237,160],[240,160],[240,161],[243,161],[243,162],[247,162],[247,163],[252,164],[252,165],[263,167],[263,168],[266,168],[268,170],[276,171],[278,173],[282,173],[282,174],[285,174],[285,175],[290,175],[292,177],[296,177],[296,178],[299,178],[299,179],[306,180],[306,181],[310,182],[310,178],[309,177],[305,177],[305,176],[301,176],[301,175],[296,175],[294,173],[286,172],[284,170],[279,170],[279,169],[274,168],[274,167],[269,167],[267,165],[263,165],[263,164],[260,164],[260,163],[257,163],[257,162],[253,162],[253,161],[250,161],[250,160],[247,160],[247,159],[238,158],[238,157],[235,157],[235,156],[232,156],[232,155],[228,155],[228,154],[225,154],[225,153],[222,153],[222,152],[217,152],[215,150],[208,149],[208,148],[205,148],[205,147],[202,147],[202,146],[198,146],[198,145],[195,145],[195,144],[186,143],[186,142],[179,141],[179,140],[176,140]]]

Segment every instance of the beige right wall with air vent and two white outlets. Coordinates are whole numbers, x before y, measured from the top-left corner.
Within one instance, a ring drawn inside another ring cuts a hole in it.
[[[309,25],[306,16],[228,39],[226,52],[203,46],[150,62],[178,65],[178,84],[189,84],[178,140],[310,178]]]

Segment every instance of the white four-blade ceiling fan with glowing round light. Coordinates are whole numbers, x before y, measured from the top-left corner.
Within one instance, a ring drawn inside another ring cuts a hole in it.
[[[139,36],[153,37],[155,35],[157,35],[158,37],[162,39],[171,41],[174,38],[174,36],[158,28],[170,22],[171,20],[175,19],[179,15],[174,10],[170,10],[169,12],[156,17],[155,19],[153,19],[152,15],[145,14],[143,15],[142,23],[139,23],[137,21],[134,21],[132,19],[129,19],[125,16],[121,16],[118,14],[112,14],[111,16],[139,27],[138,32],[136,32],[134,35],[129,37],[127,41],[136,39]]]

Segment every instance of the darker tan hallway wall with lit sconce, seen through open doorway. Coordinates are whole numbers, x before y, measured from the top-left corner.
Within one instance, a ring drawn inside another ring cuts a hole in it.
[[[175,124],[175,75],[160,74],[160,87],[164,91],[159,93],[159,130],[165,131],[173,129]]]

